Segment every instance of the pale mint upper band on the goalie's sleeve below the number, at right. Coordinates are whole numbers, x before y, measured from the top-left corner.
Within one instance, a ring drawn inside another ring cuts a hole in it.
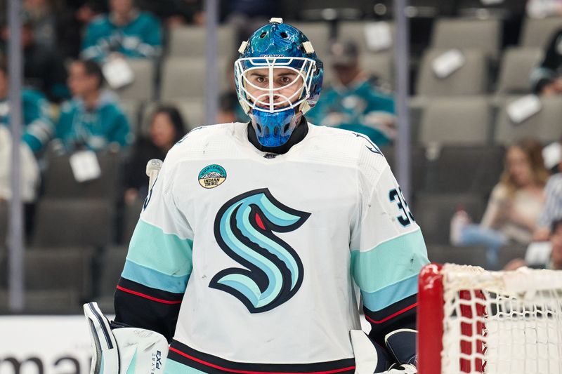
[[[374,293],[419,274],[428,262],[424,236],[417,229],[369,251],[352,251],[351,274],[363,292]]]

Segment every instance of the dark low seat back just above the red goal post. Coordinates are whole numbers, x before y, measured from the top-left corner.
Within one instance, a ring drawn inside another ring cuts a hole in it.
[[[427,245],[431,262],[486,267],[486,248],[481,246],[456,247],[438,244]]]

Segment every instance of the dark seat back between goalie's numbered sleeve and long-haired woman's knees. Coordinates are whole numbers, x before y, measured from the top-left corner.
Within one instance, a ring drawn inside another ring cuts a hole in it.
[[[419,193],[415,196],[412,214],[428,246],[449,243],[450,220],[461,207],[473,222],[480,222],[484,202],[478,194]]]

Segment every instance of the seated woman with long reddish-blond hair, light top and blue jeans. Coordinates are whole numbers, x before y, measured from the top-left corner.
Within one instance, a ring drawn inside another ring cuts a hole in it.
[[[451,220],[452,243],[488,246],[488,267],[496,269],[501,246],[509,241],[521,244],[532,241],[544,208],[547,178],[540,142],[524,139],[511,145],[480,225],[471,224],[466,212],[458,211]]]

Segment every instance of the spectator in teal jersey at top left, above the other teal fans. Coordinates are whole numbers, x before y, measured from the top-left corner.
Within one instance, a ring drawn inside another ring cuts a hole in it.
[[[112,54],[125,58],[157,58],[162,50],[160,22],[138,11],[133,0],[110,0],[110,13],[86,28],[81,58],[106,60]]]

